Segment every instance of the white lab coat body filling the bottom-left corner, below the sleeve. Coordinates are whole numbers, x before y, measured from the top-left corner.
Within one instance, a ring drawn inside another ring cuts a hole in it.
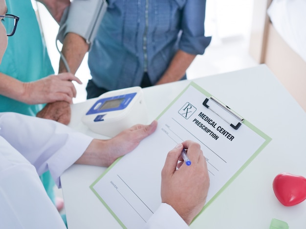
[[[0,228],[66,229],[34,168],[0,136]]]

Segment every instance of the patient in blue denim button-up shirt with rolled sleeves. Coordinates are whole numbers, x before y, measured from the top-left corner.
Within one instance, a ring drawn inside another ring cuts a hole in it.
[[[69,31],[63,41],[62,53],[73,74],[89,50],[92,79],[87,84],[87,98],[110,90],[186,79],[187,68],[210,44],[211,37],[204,35],[206,0],[107,0],[107,3],[92,44]],[[67,71],[63,62],[59,69]],[[65,115],[70,120],[67,109],[70,108],[65,102],[50,103],[38,116],[58,120]]]

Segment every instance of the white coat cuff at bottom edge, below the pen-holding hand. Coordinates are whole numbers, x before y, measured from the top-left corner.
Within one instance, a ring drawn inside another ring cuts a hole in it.
[[[168,204],[162,203],[147,222],[145,229],[189,229],[185,221]]]

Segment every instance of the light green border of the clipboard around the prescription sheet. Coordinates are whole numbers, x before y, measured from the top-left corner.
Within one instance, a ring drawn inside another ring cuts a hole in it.
[[[212,96],[208,92],[206,92],[203,88],[201,88],[199,85],[197,85],[195,82],[190,82],[190,84],[179,94],[175,97],[175,99],[167,106],[167,108],[156,118],[157,120],[165,114],[165,112],[176,102],[176,100],[184,94],[184,92],[189,87],[196,88],[199,92],[201,92],[203,95],[210,97]],[[262,145],[258,148],[258,150],[252,154],[252,156],[240,167],[240,169],[222,186],[222,188],[211,198],[210,201],[208,201],[203,209],[198,213],[198,215],[194,218],[194,220],[197,219],[197,217],[221,194],[222,191],[224,191],[237,177],[238,175],[251,163],[251,161],[269,144],[269,142],[272,140],[271,137],[264,134],[261,130],[259,130],[257,127],[252,125],[247,120],[243,120],[242,122],[245,126],[249,127],[251,130],[253,130],[256,134],[260,135],[265,141],[262,143]],[[104,200],[99,196],[99,194],[94,190],[93,186],[115,165],[117,162],[121,159],[118,158],[114,163],[112,163],[109,168],[104,171],[96,180],[95,182],[90,185],[90,189],[95,193],[95,195],[99,198],[99,200],[104,204],[104,206],[109,210],[109,212],[113,215],[113,217],[118,221],[118,223],[121,225],[122,228],[127,229],[125,225],[121,222],[121,220],[117,217],[117,215],[109,208],[109,206],[104,202]],[[193,220],[193,221],[194,221]]]

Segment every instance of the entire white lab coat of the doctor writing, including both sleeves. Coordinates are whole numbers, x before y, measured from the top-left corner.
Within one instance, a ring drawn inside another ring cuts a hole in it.
[[[0,113],[0,228],[65,229],[39,175],[60,176],[92,138],[51,120]],[[89,226],[89,225],[88,225]],[[189,228],[175,210],[161,204],[146,229]]]

